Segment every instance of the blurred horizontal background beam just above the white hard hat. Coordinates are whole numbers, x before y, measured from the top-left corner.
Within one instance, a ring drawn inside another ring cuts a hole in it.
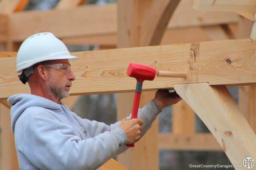
[[[23,23],[27,23],[27,26]],[[115,27],[116,5],[113,4],[67,10],[26,11],[10,15],[10,38],[14,41],[23,41],[38,32],[52,32],[61,38],[108,34],[116,32]]]

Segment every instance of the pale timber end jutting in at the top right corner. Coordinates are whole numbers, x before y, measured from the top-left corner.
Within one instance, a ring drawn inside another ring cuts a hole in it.
[[[195,0],[194,9],[200,11],[255,12],[255,0]]]

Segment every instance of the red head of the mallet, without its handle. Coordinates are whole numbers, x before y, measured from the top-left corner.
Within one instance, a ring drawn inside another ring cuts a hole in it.
[[[156,68],[141,64],[130,63],[127,69],[127,74],[135,78],[138,82],[144,80],[154,80],[156,76]]]

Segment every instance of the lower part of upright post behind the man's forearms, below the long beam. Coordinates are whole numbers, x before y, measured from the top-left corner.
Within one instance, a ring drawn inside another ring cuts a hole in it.
[[[125,0],[126,1],[126,0]],[[142,92],[140,108],[154,98],[155,91]],[[126,97],[126,98],[125,98]],[[117,119],[129,115],[132,112],[134,93],[124,93],[117,96]],[[135,148],[129,149],[117,156],[118,162],[128,169],[157,169],[158,158],[158,119],[155,120],[150,130],[136,144]]]

